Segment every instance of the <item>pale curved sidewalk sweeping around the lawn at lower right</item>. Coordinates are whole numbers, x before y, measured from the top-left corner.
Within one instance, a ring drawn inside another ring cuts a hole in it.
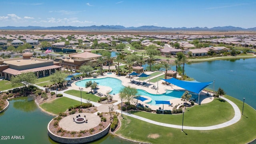
[[[214,125],[214,126],[201,126],[201,127],[200,126],[198,126],[198,127],[196,127],[196,126],[183,126],[183,129],[185,129],[185,130],[215,130],[215,129],[218,129],[218,128],[224,128],[226,126],[230,126],[230,125],[235,124],[236,122],[238,122],[241,118],[241,112],[240,112],[238,106],[236,106],[236,104],[234,104],[234,102],[232,102],[231,100],[228,100],[227,98],[222,97],[222,99],[226,100],[234,108],[234,111],[235,111],[234,118],[232,118],[231,120],[229,120],[227,122],[224,122],[222,124],[217,124],[217,125]],[[120,110],[116,110],[116,111],[121,113]],[[156,124],[156,125],[159,125],[159,126],[165,126],[165,127],[169,127],[169,128],[180,128],[180,129],[182,129],[182,126],[180,126],[180,125],[156,122],[156,121],[153,121],[153,120],[149,120],[147,118],[136,116],[134,114],[129,114],[128,112],[122,112],[122,114],[125,114],[127,116],[131,116],[133,118],[137,118],[139,120],[143,120],[145,122],[149,122],[151,124]]]

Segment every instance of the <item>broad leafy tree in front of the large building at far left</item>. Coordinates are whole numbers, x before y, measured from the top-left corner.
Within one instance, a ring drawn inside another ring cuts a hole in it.
[[[17,76],[11,77],[12,86],[16,86],[18,84],[23,84],[25,87],[30,85],[36,81],[37,77],[34,72],[22,72]]]

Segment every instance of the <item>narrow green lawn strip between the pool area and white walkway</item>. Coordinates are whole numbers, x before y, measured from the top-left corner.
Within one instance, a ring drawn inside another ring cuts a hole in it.
[[[68,90],[66,92],[64,92],[66,94],[70,94],[72,96],[76,96],[76,97],[81,97],[81,92],[80,90]],[[94,94],[88,94],[85,91],[82,91],[82,98],[86,99],[86,100],[91,100],[93,102],[98,102],[98,100],[100,99],[100,97],[95,96]]]

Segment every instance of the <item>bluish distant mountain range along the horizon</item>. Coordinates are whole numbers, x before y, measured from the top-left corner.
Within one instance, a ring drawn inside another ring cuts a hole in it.
[[[213,28],[166,28],[166,27],[159,27],[159,26],[139,26],[139,27],[124,27],[124,26],[109,26],[109,25],[101,25],[101,26],[55,26],[55,27],[40,27],[40,26],[6,26],[0,27],[0,30],[256,30],[254,28],[240,28],[234,26],[218,26]]]

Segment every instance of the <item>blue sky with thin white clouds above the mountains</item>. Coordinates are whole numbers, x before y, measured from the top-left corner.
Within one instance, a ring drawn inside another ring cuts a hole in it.
[[[256,27],[256,0],[0,0],[0,6],[0,27]]]

